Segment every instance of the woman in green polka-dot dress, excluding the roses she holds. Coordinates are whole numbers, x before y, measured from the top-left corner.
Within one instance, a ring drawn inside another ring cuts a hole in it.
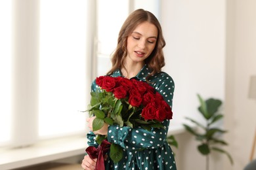
[[[165,65],[162,48],[165,46],[160,23],[151,12],[138,9],[125,20],[117,41],[117,48],[112,56],[110,76],[124,76],[148,82],[172,106],[174,82],[171,76],[161,71]],[[92,90],[95,91],[95,81]],[[92,130],[95,117],[87,119]],[[147,131],[142,127],[119,128],[117,125],[104,126],[98,131],[87,134],[89,146],[97,147],[95,135],[107,135],[110,143],[119,144],[124,152],[118,163],[105,156],[106,169],[176,169],[171,147],[167,143],[169,120],[162,122],[165,128],[152,128]],[[83,159],[83,169],[95,169],[96,159],[88,155]]]

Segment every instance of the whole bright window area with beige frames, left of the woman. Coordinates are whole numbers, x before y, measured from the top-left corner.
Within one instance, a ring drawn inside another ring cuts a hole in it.
[[[91,82],[138,2],[0,1],[0,146],[85,134]]]

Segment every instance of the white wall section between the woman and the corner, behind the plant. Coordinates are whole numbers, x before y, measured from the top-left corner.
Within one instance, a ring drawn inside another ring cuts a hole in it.
[[[197,93],[205,99],[224,100],[225,5],[223,0],[161,1],[161,25],[167,43],[165,71],[175,80],[173,123],[185,122],[184,116],[202,120]],[[177,168],[205,169],[205,157],[198,152],[194,137],[187,133],[176,137]],[[211,169],[222,169],[221,154],[217,156],[210,160]]]

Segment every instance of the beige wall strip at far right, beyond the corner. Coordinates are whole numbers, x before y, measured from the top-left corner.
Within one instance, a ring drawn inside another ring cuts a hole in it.
[[[224,169],[243,169],[249,162],[256,126],[256,101],[248,99],[249,76],[256,75],[256,1],[227,1],[226,121],[235,164]],[[254,158],[256,158],[254,154]]]

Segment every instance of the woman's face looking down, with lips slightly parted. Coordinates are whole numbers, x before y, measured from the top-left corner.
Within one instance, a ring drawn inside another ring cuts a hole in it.
[[[127,38],[127,58],[132,62],[144,63],[156,46],[158,29],[154,24],[142,22]]]

